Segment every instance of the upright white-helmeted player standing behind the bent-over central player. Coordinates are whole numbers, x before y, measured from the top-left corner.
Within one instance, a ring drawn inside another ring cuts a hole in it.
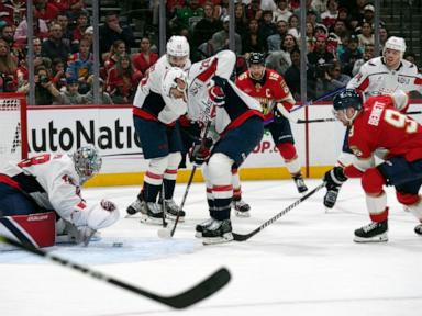
[[[149,159],[144,184],[137,199],[127,207],[129,214],[141,212],[142,221],[160,223],[163,210],[157,203],[158,193],[164,187],[167,216],[171,219],[185,212],[173,200],[177,168],[181,160],[181,138],[177,120],[187,111],[186,102],[170,99],[163,92],[164,78],[169,69],[177,67],[176,77],[185,77],[190,67],[189,44],[184,36],[171,36],[167,42],[166,55],[148,70],[142,79],[133,103],[133,121],[145,159]]]

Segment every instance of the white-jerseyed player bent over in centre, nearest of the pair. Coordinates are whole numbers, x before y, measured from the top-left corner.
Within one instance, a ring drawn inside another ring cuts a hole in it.
[[[206,162],[202,172],[210,218],[196,227],[196,236],[206,245],[233,239],[232,169],[243,163],[264,134],[259,103],[230,81],[235,64],[235,54],[222,50],[193,64],[188,72],[188,116],[202,126],[204,137],[191,156],[197,166]],[[176,88],[168,91],[182,98]],[[214,137],[210,137],[210,128]]]

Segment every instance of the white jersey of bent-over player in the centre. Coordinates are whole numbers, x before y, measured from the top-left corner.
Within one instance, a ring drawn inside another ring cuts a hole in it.
[[[238,126],[252,115],[262,116],[259,102],[230,80],[235,63],[236,56],[233,52],[222,50],[190,67],[188,71],[189,120],[207,123],[211,119],[215,131],[221,134],[231,126]],[[208,94],[208,90],[214,84],[212,80],[214,76],[226,79],[230,84],[231,95],[226,94],[225,104],[222,106],[214,106]]]

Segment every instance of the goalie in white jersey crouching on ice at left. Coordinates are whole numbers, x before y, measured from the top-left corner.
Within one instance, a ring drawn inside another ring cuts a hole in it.
[[[80,196],[101,162],[87,145],[71,156],[44,154],[7,165],[0,171],[0,234],[35,248],[53,246],[56,234],[67,234],[62,241],[88,245],[98,229],[119,219],[113,202],[87,203]]]

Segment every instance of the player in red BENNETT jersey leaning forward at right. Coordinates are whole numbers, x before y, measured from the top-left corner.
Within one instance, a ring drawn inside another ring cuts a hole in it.
[[[391,95],[369,98],[365,104],[355,90],[345,90],[333,101],[335,116],[348,126],[353,163],[334,167],[324,176],[326,187],[341,185],[347,178],[362,178],[369,225],[355,230],[356,242],[387,241],[388,212],[384,185],[393,185],[398,201],[422,223],[422,126],[400,113],[408,103],[407,94],[397,90]],[[386,137],[388,135],[388,137]],[[385,162],[374,167],[377,149],[387,149]],[[422,224],[415,227],[422,235]]]

